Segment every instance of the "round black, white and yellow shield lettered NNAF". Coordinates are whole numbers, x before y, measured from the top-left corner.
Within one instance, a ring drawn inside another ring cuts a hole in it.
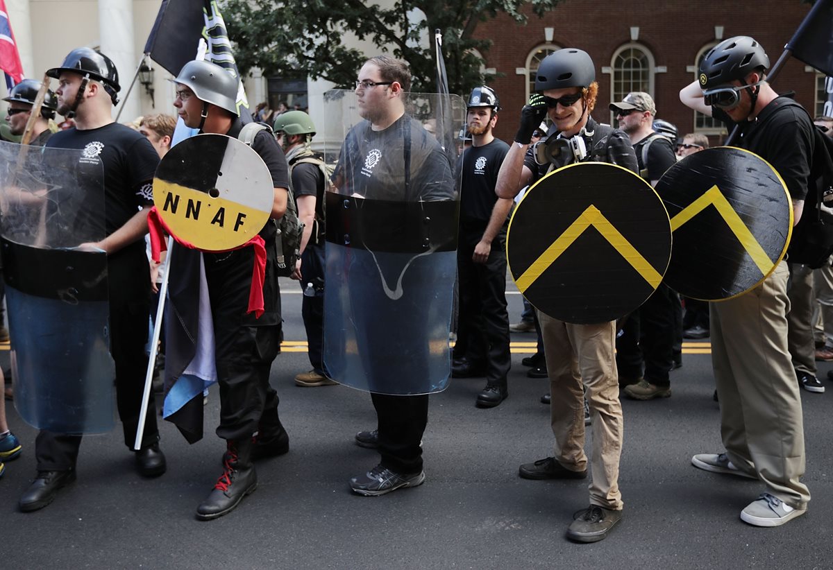
[[[247,144],[197,135],[168,151],[153,179],[153,202],[177,240],[198,250],[245,244],[272,213],[272,175]]]

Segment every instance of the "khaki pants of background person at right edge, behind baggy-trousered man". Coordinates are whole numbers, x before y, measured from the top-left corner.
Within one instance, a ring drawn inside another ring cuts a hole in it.
[[[787,347],[792,367],[816,375],[816,343],[813,340],[813,270],[806,265],[788,263],[790,280],[787,296],[790,312],[787,319]]]

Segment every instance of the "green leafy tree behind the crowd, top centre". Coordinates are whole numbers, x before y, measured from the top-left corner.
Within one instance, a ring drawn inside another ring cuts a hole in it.
[[[397,0],[392,7],[362,0],[224,0],[229,37],[241,72],[260,67],[267,76],[322,77],[352,88],[367,57],[389,50],[407,61],[413,91],[436,91],[434,30],[442,33],[449,91],[464,93],[486,79],[472,49],[487,52],[491,40],[473,37],[481,22],[505,13],[525,23],[522,9],[541,17],[561,0]],[[347,47],[352,32],[378,50],[366,54]],[[428,37],[428,42],[425,38]]]

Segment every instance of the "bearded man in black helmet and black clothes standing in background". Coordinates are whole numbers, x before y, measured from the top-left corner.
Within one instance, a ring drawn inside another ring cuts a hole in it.
[[[471,146],[457,169],[462,173],[457,275],[460,316],[457,341],[465,339],[464,361],[451,369],[456,378],[486,376],[477,394],[479,408],[493,408],[509,395],[506,374],[511,366],[509,313],[506,311],[506,228],[512,201],[495,196],[497,173],[509,151],[492,129],[500,109],[489,87],[475,87],[467,104]]]

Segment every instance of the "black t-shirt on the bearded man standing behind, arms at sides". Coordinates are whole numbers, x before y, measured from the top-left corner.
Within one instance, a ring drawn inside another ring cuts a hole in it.
[[[462,171],[460,222],[462,226],[486,227],[495,207],[497,173],[509,145],[499,139],[484,146],[469,146],[457,161]]]

